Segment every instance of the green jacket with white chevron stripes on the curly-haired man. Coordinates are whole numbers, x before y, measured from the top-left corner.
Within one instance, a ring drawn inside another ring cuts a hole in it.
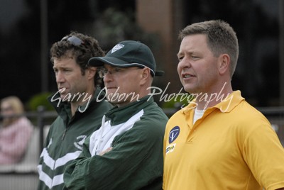
[[[107,101],[97,101],[98,96],[99,100],[105,96],[99,88],[94,92],[92,101],[80,106],[73,117],[70,104],[64,101],[58,104],[58,101],[54,101],[60,98],[58,94],[50,96],[50,104],[55,107],[59,116],[50,125],[40,155],[38,189],[62,189],[64,186],[65,166],[80,155],[84,140],[101,126],[102,116],[112,108]]]

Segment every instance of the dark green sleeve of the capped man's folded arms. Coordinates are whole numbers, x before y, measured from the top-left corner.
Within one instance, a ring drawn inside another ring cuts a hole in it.
[[[116,136],[113,149],[94,157],[82,155],[65,169],[67,189],[141,189],[163,176],[163,130],[133,127]]]

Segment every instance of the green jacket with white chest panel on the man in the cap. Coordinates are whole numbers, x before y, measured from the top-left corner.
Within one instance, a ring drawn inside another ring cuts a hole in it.
[[[163,136],[168,121],[163,110],[146,96],[112,108],[105,119],[104,126],[85,141],[80,157],[66,167],[66,188],[162,189]],[[113,149],[99,155],[107,147]]]

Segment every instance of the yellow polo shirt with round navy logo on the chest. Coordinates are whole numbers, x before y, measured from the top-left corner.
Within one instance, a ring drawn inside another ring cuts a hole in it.
[[[234,91],[192,124],[195,102],[175,113],[164,138],[165,190],[284,187],[284,149],[268,120]]]

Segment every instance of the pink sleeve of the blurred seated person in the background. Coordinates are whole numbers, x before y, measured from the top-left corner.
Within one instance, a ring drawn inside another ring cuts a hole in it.
[[[15,125],[17,126],[15,135],[13,136],[13,143],[1,147],[1,152],[11,157],[21,157],[28,147],[28,142],[33,132],[33,126],[23,119]]]

